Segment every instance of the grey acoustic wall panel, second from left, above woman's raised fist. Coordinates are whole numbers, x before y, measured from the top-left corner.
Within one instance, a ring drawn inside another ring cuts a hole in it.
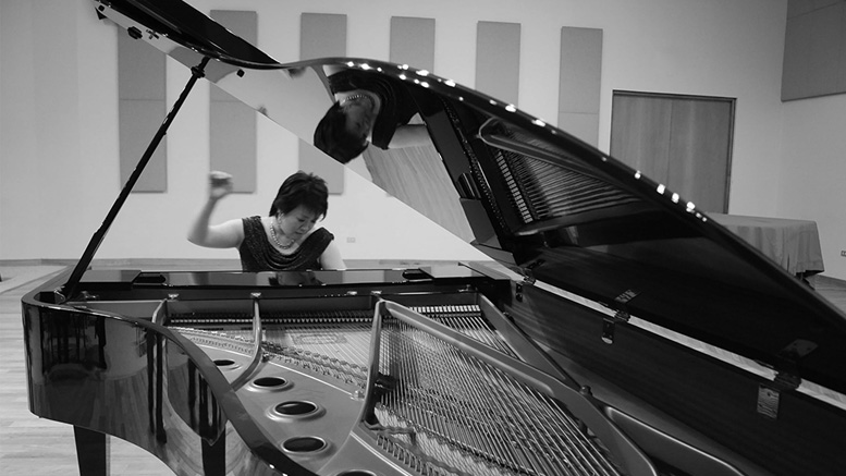
[[[211,17],[235,35],[256,45],[256,12],[212,10]],[[213,84],[209,97],[210,168],[231,173],[234,192],[254,193],[258,180],[256,111]]]

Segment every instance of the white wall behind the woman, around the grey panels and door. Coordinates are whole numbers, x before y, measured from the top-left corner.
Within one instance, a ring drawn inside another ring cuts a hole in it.
[[[826,268],[833,271],[826,273],[846,278],[846,270],[833,266],[838,256],[832,246],[838,254],[842,245],[826,239],[836,229],[835,217],[807,215],[822,200],[794,193],[794,184],[783,178],[797,168],[822,170],[834,162],[831,155],[823,160],[814,154],[796,164],[794,144],[813,148],[837,137],[805,125],[819,111],[802,117],[793,113],[801,105],[780,101],[786,0],[197,0],[194,4],[203,11],[259,11],[259,47],[282,62],[298,59],[302,12],[346,14],[347,54],[375,59],[388,58],[391,16],[433,17],[434,72],[468,86],[475,82],[476,23],[520,23],[518,106],[544,119],[557,114],[560,28],[602,28],[600,148],[608,149],[610,142],[614,89],[737,98],[729,211],[818,220]],[[0,259],[75,258],[121,186],[115,158],[115,33],[96,20],[87,0],[3,0],[0,22],[0,60],[15,66],[0,70]],[[174,62],[168,68],[172,102],[188,72]],[[205,191],[207,88],[198,84],[167,137],[169,192],[133,194],[98,257],[234,257],[232,251],[203,249],[184,240],[186,220]],[[836,110],[831,114],[843,117]],[[794,129],[793,122],[804,126]],[[785,131],[790,131],[790,144],[782,142]],[[294,143],[272,124],[260,123],[258,194],[228,199],[216,217],[263,213],[279,181],[296,168]],[[832,174],[814,175],[811,190],[835,190]],[[478,257],[461,243],[446,242],[440,229],[421,229],[413,215],[395,212],[399,205],[393,199],[352,173],[346,188],[344,196],[332,197],[324,222],[339,237],[345,257]],[[179,205],[168,205],[173,203]],[[347,243],[348,237],[355,243]]]

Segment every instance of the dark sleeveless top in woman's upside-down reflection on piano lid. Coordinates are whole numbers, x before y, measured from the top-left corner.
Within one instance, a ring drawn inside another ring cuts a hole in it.
[[[407,124],[418,111],[417,103],[404,84],[396,84],[378,74],[344,70],[329,76],[329,88],[333,94],[366,89],[379,96],[382,107],[373,122],[372,144],[380,149],[387,149],[396,127]]]

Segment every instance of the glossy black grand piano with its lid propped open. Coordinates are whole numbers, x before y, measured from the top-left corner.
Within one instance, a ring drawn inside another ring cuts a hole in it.
[[[94,7],[193,75],[79,264],[23,298],[30,410],[73,425],[83,475],[108,436],[180,475],[846,472],[846,316],[695,204],[427,71],[280,64],[179,0]],[[498,265],[90,267],[196,81],[310,131],[329,69],[413,98],[442,206]]]

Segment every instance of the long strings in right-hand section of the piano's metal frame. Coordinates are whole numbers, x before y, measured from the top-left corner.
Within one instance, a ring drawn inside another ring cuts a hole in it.
[[[459,320],[449,324],[465,335],[498,339],[479,330],[481,316]],[[376,404],[373,431],[389,451],[414,454],[422,474],[620,474],[584,425],[549,395],[396,319],[384,318],[381,333],[379,371],[393,386]]]

